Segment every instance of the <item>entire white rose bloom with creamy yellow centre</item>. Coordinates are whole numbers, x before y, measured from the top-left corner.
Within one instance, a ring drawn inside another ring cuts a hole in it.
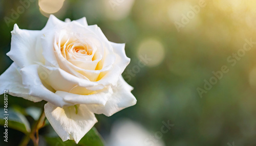
[[[97,123],[94,113],[111,116],[136,104],[121,74],[130,63],[124,44],[110,42],[86,18],[63,22],[51,15],[40,31],[11,32],[14,61],[0,76],[0,94],[40,102],[65,141],[76,143]]]

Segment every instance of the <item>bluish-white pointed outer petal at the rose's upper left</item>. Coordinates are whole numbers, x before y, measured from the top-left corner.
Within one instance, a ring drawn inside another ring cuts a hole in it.
[[[21,30],[15,24],[11,33],[11,51],[7,55],[19,67],[40,61],[41,57],[36,53],[36,43],[37,38],[40,37],[40,31]]]

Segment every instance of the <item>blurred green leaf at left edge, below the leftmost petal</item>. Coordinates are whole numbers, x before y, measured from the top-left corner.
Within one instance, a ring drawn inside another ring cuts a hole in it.
[[[30,124],[27,118],[23,114],[15,111],[14,109],[9,108],[8,113],[5,113],[4,109],[0,108],[0,114],[1,115],[8,114],[8,115],[4,115],[4,117],[8,117],[7,118],[8,125],[6,124],[6,120],[4,118],[0,119],[0,125],[4,127],[8,126],[8,128],[21,131],[25,134],[31,131]]]

